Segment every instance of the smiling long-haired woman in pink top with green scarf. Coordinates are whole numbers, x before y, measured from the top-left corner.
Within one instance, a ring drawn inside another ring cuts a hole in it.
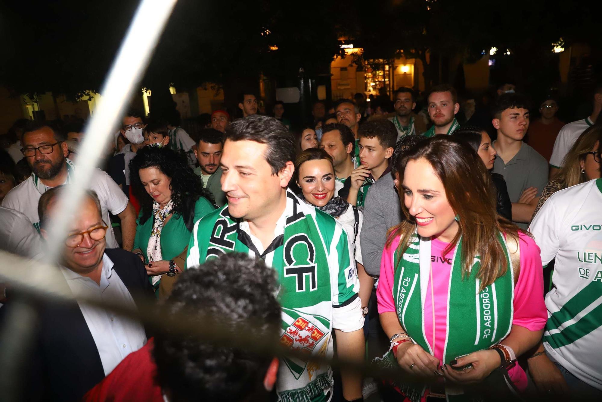
[[[539,248],[497,215],[488,171],[464,143],[433,137],[397,171],[406,220],[389,230],[377,297],[391,338],[385,362],[411,378],[400,391],[413,401],[470,399],[498,367],[523,390],[516,358],[538,344],[547,319]]]

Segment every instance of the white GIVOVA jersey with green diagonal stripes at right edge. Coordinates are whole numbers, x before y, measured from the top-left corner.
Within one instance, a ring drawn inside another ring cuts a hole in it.
[[[545,297],[545,350],[602,390],[602,179],[551,195],[529,231],[544,266],[556,259],[554,288]]]

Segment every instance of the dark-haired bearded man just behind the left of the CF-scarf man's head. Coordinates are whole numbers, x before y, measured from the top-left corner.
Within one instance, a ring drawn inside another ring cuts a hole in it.
[[[203,128],[199,131],[199,149],[194,151],[199,166],[194,168],[194,173],[203,179],[203,187],[213,194],[218,207],[223,207],[228,202],[222,191],[222,148],[224,145],[223,133],[213,128]]]

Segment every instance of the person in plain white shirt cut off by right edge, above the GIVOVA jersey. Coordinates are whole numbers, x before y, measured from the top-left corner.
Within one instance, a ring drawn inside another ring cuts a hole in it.
[[[566,124],[560,129],[556,137],[556,142],[554,142],[552,156],[550,157],[550,178],[553,178],[560,168],[562,168],[562,162],[566,154],[568,154],[569,149],[571,149],[571,146],[577,141],[581,133],[594,125],[598,119],[600,111],[602,111],[602,83],[594,88],[593,101],[594,110],[591,115],[585,119]]]

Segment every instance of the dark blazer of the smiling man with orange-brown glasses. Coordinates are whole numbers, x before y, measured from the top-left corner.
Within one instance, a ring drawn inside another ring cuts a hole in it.
[[[152,303],[154,293],[140,258],[121,248],[108,248],[113,269],[128,288],[137,306],[145,299]],[[65,282],[65,285],[67,283]],[[10,303],[0,316],[8,316]],[[105,377],[101,357],[84,315],[77,303],[42,301],[23,378],[23,398],[27,401],[78,401]],[[2,320],[4,321],[4,320]]]

